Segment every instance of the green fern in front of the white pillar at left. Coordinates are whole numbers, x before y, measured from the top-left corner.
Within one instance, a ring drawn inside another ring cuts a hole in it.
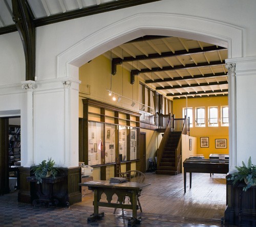
[[[48,161],[44,160],[39,165],[31,168],[35,174],[37,184],[42,183],[42,178],[48,178],[49,176],[55,178],[59,170],[57,167],[54,167],[54,165],[55,162],[52,160],[52,158],[48,158]]]

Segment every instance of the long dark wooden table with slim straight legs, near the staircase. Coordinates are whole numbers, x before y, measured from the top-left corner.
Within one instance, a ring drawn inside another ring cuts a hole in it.
[[[186,193],[186,173],[189,172],[189,188],[192,185],[192,173],[228,173],[228,160],[219,159],[186,159],[184,167],[184,193]]]

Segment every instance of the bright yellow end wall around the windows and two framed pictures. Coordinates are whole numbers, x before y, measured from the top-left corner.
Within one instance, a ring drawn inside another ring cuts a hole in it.
[[[210,154],[228,154],[228,127],[195,127],[195,107],[205,107],[206,122],[208,119],[208,107],[218,106],[221,117],[221,106],[228,106],[227,96],[188,98],[187,107],[193,108],[193,128],[190,128],[190,136],[197,137],[197,154],[209,158]],[[186,99],[174,99],[173,113],[176,118],[182,118],[182,108],[186,107]],[[200,147],[200,137],[209,137],[209,147]],[[215,148],[215,139],[227,139],[227,148]]]

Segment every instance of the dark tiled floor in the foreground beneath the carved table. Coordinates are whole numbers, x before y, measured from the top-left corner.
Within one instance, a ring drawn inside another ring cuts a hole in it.
[[[0,226],[127,226],[131,212],[104,208],[103,220],[87,223],[92,207],[72,205],[70,208],[33,207],[30,204],[18,203],[16,193],[0,196]],[[142,223],[138,226],[221,226],[220,220],[181,218],[168,215],[142,214]]]

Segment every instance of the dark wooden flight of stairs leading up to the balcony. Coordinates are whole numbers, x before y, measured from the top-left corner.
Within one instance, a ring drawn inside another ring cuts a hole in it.
[[[178,147],[180,136],[181,132],[169,132],[169,137],[164,146],[157,174],[177,175],[179,173],[179,169],[175,167],[175,150]],[[179,159],[181,159],[181,157],[179,157]],[[178,162],[180,162],[180,160],[178,160]]]

